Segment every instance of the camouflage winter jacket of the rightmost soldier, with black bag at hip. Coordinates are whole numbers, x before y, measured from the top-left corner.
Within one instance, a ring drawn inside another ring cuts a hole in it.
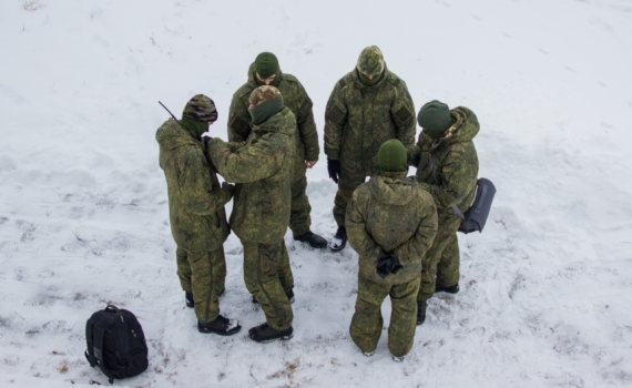
[[[473,201],[478,176],[478,156],[472,142],[480,127],[478,119],[463,106],[451,110],[450,114],[456,122],[441,139],[432,141],[421,132],[417,144],[408,147],[408,164],[417,166],[417,177],[428,184],[426,187],[440,214],[453,214],[452,205],[465,213]]]

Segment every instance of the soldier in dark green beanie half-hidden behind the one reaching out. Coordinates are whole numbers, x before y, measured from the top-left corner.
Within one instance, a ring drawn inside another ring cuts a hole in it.
[[[306,169],[318,162],[320,149],[318,132],[312,113],[312,100],[296,76],[283,73],[277,58],[271,52],[262,52],[248,69],[248,81],[233,94],[228,119],[228,141],[244,142],[252,131],[252,119],[248,113],[248,99],[256,88],[273,85],[283,95],[283,102],[294,116],[298,133],[296,135],[296,161],[292,182],[292,211],[289,228],[294,239],[308,243],[315,248],[324,248],[327,241],[309,229],[312,218],[307,188]]]

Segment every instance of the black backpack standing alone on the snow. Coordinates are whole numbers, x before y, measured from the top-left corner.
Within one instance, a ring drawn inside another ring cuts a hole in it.
[[[133,377],[147,369],[147,345],[136,317],[114,305],[92,314],[85,324],[88,350],[85,358],[91,367],[99,366],[114,379]]]

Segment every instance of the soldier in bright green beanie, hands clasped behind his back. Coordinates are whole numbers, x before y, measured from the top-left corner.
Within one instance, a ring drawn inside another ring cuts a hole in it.
[[[379,339],[380,306],[390,296],[388,349],[396,361],[412,347],[421,257],[437,233],[432,196],[406,177],[406,147],[393,139],[377,153],[383,175],[360,184],[347,208],[349,243],[359,256],[358,297],[350,334],[373,355]]]

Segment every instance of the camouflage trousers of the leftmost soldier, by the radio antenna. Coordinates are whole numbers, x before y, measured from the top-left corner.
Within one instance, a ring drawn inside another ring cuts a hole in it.
[[[195,252],[180,246],[175,252],[177,277],[186,293],[193,294],[195,316],[206,323],[220,315],[220,293],[226,280],[224,248]]]

